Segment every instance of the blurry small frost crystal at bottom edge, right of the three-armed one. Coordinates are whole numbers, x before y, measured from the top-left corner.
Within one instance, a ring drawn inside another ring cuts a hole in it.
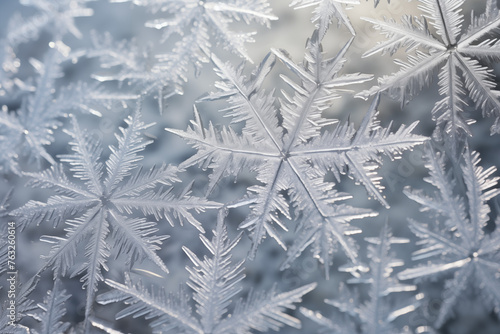
[[[404,262],[391,252],[392,244],[407,244],[410,240],[394,237],[387,223],[384,224],[378,238],[367,237],[365,240],[369,243],[369,270],[357,274],[347,282],[369,284],[369,300],[362,303],[358,294],[350,293],[344,285],[341,285],[340,296],[337,299],[325,300],[339,311],[331,319],[306,308],[301,308],[301,312],[320,325],[318,333],[410,334],[412,332],[408,326],[397,326],[396,319],[407,317],[409,313],[415,311],[423,296],[413,293],[417,289],[415,285],[398,281],[393,274],[394,268],[404,266]],[[344,269],[356,273],[353,268]],[[397,299],[391,298],[394,296],[393,293],[401,292],[413,293],[411,300],[395,303]],[[422,327],[418,333],[423,332]]]

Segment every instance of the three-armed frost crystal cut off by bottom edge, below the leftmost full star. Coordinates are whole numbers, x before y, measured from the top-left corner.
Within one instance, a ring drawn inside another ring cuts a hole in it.
[[[231,260],[231,252],[241,234],[233,241],[228,239],[225,214],[224,209],[220,210],[212,240],[200,234],[209,256],[201,260],[188,247],[183,247],[193,264],[187,268],[190,274],[187,286],[193,290],[192,297],[182,288],[178,294],[167,294],[164,288],[149,291],[140,282],[134,284],[126,275],[125,283],[107,279],[113,290],[98,296],[98,302],[105,305],[125,302],[128,306],[117,318],[154,318],[150,326],[155,333],[243,334],[253,330],[278,330],[284,325],[300,328],[300,321],[286,310],[293,310],[302,296],[315,288],[315,283],[282,293],[277,293],[275,288],[269,292],[251,291],[247,299],[240,299],[229,313],[233,298],[242,290],[240,283],[245,275],[244,261],[232,263]],[[190,299],[196,303],[197,317],[191,310]]]

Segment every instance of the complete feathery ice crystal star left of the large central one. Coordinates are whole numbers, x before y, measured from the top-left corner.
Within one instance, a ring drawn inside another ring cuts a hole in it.
[[[87,135],[75,118],[72,123],[73,130],[67,133],[73,140],[70,142],[73,154],[61,155],[60,160],[70,166],[73,176],[83,181],[84,187],[70,180],[62,164],[54,164],[40,173],[26,173],[31,178],[31,186],[52,189],[57,195],[50,196],[46,202],[30,200],[12,214],[18,216],[22,228],[43,221],[54,226],[66,223],[66,237],[42,236],[41,239],[53,247],[40,271],[52,268],[56,277],[69,271],[72,276],[83,274],[81,281],[87,289],[85,316],[88,318],[97,284],[104,279],[102,270],[108,269],[113,249],[126,255],[130,265],[148,258],[168,272],[156,254],[167,236],[156,235],[155,222],[132,218],[133,211],[154,215],[157,220],[165,218],[172,226],[176,221],[181,224],[186,221],[203,231],[191,211],[218,205],[191,196],[189,188],[180,196],[174,195],[170,186],[178,181],[176,167],[161,165],[143,171],[138,166],[142,160],[139,153],[151,143],[143,139],[142,133],[150,125],[142,122],[139,108],[126,119],[128,127],[120,128],[116,135],[118,145],[110,146],[106,174],[99,161],[103,151],[101,143]],[[76,263],[77,246],[82,242],[86,242],[86,261]],[[73,270],[76,264],[78,267]]]

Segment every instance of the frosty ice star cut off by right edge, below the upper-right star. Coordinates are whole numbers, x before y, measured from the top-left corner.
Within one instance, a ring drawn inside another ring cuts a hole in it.
[[[407,280],[454,272],[452,278],[446,279],[436,320],[438,327],[471,288],[498,314],[500,220],[496,219],[493,232],[485,231],[491,211],[487,202],[500,194],[500,189],[494,188],[499,178],[491,177],[496,168],[483,169],[479,166],[479,153],[466,149],[460,166],[462,175],[453,175],[446,168],[443,154],[429,147],[426,156],[430,175],[425,181],[437,191],[429,196],[408,189],[406,194],[422,206],[422,211],[429,211],[434,217],[428,224],[408,219],[411,230],[421,239],[421,249],[413,254],[413,259],[428,262],[407,268],[398,277]]]

